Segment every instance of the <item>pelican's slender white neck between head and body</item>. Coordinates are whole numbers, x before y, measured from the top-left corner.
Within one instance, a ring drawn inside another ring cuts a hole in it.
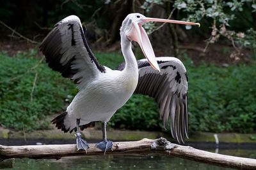
[[[132,43],[127,38],[121,37],[121,49],[125,59],[125,68],[124,71],[128,71],[131,73],[136,72],[138,73],[138,64],[134,53],[132,52]]]

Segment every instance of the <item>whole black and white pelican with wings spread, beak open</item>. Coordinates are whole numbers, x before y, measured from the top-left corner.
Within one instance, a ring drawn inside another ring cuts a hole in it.
[[[102,66],[90,50],[78,17],[64,18],[45,37],[40,50],[49,67],[77,84],[79,92],[67,110],[52,120],[64,132],[75,131],[77,150],[87,150],[81,131],[102,122],[102,141],[96,147],[106,152],[113,142],[107,139],[106,125],[132,94],[154,97],[164,127],[170,122],[173,138],[184,143],[188,138],[188,76],[179,59],[155,57],[142,25],[145,22],[170,22],[199,25],[193,22],[148,18],[140,13],[127,15],[120,28],[125,62],[116,70]],[[147,59],[136,60],[131,41],[136,41]]]

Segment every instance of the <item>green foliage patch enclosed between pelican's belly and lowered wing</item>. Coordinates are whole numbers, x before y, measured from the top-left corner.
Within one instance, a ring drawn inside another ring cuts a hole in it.
[[[134,95],[116,111],[109,124],[117,128],[157,131],[162,124],[158,111],[157,104],[151,97]]]

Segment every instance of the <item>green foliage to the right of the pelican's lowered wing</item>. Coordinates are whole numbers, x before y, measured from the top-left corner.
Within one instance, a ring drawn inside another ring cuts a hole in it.
[[[253,132],[256,129],[255,65],[188,67],[192,131]]]

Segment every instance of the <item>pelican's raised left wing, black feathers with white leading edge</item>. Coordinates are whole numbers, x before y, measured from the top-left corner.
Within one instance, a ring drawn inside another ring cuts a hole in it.
[[[106,71],[90,50],[81,22],[74,15],[55,25],[42,41],[40,50],[49,67],[74,80],[79,89]]]

